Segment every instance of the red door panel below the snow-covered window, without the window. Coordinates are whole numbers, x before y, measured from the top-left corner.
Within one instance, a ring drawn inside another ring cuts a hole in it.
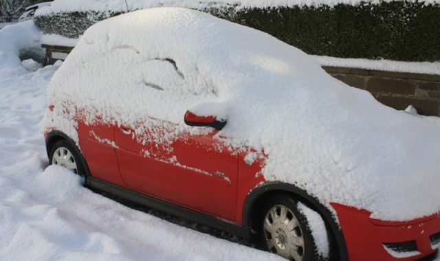
[[[232,220],[237,156],[214,139],[214,129],[208,135],[175,135],[177,124],[153,120],[148,128],[140,125],[115,128],[120,174],[128,187]]]

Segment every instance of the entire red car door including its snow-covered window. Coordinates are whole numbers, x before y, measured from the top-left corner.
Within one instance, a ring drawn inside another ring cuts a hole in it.
[[[129,121],[114,125],[121,177],[137,192],[232,220],[237,156],[215,139],[213,128],[182,121],[187,107],[215,98],[215,91],[179,65],[170,58],[142,60],[142,75],[124,87],[136,90],[139,106],[124,111]]]

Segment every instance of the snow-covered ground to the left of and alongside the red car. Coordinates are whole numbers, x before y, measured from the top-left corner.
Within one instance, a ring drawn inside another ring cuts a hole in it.
[[[46,89],[58,66],[29,72],[16,52],[38,39],[32,21],[0,30],[1,260],[282,260],[124,207],[46,168]]]

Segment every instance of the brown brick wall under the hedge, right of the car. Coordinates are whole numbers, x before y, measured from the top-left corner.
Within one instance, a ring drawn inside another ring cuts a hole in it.
[[[440,116],[440,75],[323,68],[342,82],[369,91],[376,100],[394,109],[404,110],[412,105],[421,115]]]

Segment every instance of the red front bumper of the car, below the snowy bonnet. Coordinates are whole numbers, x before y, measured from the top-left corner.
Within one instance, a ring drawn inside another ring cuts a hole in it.
[[[331,203],[350,260],[418,260],[434,258],[440,247],[440,214],[404,222],[370,218],[371,212]]]

